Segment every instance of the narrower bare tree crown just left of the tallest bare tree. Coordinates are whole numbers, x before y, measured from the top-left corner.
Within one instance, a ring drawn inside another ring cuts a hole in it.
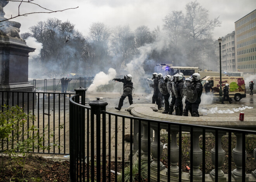
[[[183,32],[183,13],[182,11],[172,11],[163,19],[164,29],[168,30],[169,38],[172,45],[177,46],[180,42]]]

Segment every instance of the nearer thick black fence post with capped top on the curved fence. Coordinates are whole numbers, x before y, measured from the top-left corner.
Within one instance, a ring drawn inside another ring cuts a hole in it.
[[[94,182],[94,115],[96,115],[96,166],[97,166],[97,181],[100,181],[100,114],[101,111],[106,111],[106,105],[107,102],[104,102],[103,100],[100,100],[99,97],[96,97],[97,100],[93,100],[92,102],[89,102],[89,105],[91,106],[91,179],[92,182]],[[106,114],[102,114],[102,127],[106,128],[106,123],[104,124],[104,121],[106,121]],[[102,133],[102,138],[105,138],[106,132]],[[102,143],[106,143],[106,141],[102,141]],[[102,150],[106,150],[106,147],[102,147]],[[106,167],[102,165],[103,168]]]

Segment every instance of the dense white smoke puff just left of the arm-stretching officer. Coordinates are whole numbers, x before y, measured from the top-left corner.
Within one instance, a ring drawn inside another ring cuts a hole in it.
[[[109,68],[108,74],[100,71],[95,75],[90,87],[88,87],[88,92],[95,92],[97,87],[100,85],[107,85],[114,77],[116,77],[116,70],[114,68]]]

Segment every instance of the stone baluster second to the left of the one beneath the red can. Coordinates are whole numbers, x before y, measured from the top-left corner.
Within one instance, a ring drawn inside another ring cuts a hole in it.
[[[200,180],[202,178],[202,171],[199,170],[199,165],[202,163],[202,149],[199,146],[200,135],[201,135],[201,132],[194,131],[192,136],[193,137],[193,166],[192,167],[193,167],[194,180]],[[191,154],[189,156],[191,160]]]

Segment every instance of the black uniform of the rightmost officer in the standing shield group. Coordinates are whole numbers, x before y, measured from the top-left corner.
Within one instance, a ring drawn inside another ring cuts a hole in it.
[[[197,92],[197,100],[195,100],[195,102],[186,102],[186,113],[183,114],[183,116],[188,116],[188,111],[190,111],[190,113],[192,112],[192,116],[193,117],[199,117],[199,112],[198,112],[198,108],[199,108],[199,104],[201,103],[201,95],[202,95],[202,83],[200,82],[200,80],[197,80],[195,82],[192,82],[192,85],[195,87],[195,90]]]

